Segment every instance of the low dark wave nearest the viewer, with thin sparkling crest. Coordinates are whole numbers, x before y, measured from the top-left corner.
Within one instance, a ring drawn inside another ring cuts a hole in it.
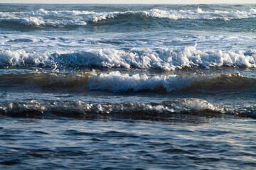
[[[47,113],[71,118],[107,115],[123,118],[171,118],[174,114],[200,116],[238,115],[255,118],[254,108],[228,108],[198,98],[184,98],[162,103],[85,103],[78,102],[12,102],[0,103],[0,114],[15,117],[47,116]]]

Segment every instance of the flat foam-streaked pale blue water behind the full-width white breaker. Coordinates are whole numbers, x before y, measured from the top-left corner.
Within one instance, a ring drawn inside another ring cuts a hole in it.
[[[122,35],[124,36],[124,35]],[[84,49],[95,48],[156,48],[156,47],[169,47],[174,49],[177,46],[194,45],[195,42],[200,43],[196,50],[207,48],[208,51],[219,49],[230,51],[250,49],[255,42],[256,36],[254,35],[185,35],[169,38],[147,38],[147,39],[125,39],[125,38],[85,38],[83,36],[42,36],[42,35],[16,35],[16,34],[2,34],[0,35],[1,48],[16,50],[16,49],[29,49],[30,51],[37,52],[70,52],[79,51]],[[11,42],[11,43],[10,43]],[[26,43],[23,43],[26,42]],[[242,44],[238,44],[242,42]],[[236,43],[236,45],[234,45]],[[63,48],[63,47],[67,48]],[[40,48],[38,48],[40,47]],[[230,47],[232,47],[230,49]]]

